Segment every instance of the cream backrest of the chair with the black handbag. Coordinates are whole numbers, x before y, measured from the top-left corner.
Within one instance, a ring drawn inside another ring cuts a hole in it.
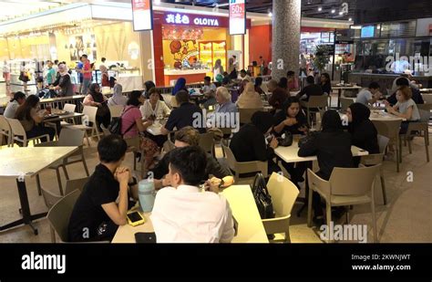
[[[267,183],[267,190],[272,196],[273,210],[276,217],[290,215],[295,200],[299,195],[298,188],[283,175],[273,172]]]

